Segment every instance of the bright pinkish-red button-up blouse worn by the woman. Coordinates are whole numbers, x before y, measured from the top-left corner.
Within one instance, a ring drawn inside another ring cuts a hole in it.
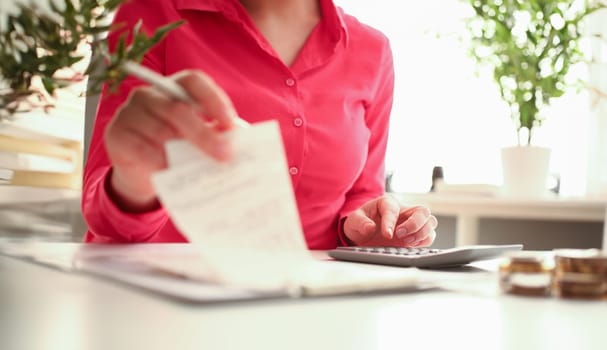
[[[227,92],[239,116],[280,123],[301,225],[310,249],[343,243],[340,219],[384,192],[394,72],[387,38],[321,0],[322,20],[285,65],[237,0],[131,0],[116,14],[143,30],[185,19],[145,57],[164,75],[200,69]],[[111,35],[110,45],[116,35]],[[108,196],[103,131],[129,92],[104,91],[84,172],[86,242],[184,242],[162,209],[121,211]],[[244,224],[246,226],[246,224]]]

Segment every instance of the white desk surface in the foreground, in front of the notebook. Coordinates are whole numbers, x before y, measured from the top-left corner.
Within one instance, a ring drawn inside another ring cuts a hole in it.
[[[607,348],[605,301],[501,295],[491,273],[438,273],[459,290],[192,305],[0,255],[0,341],[35,350]]]

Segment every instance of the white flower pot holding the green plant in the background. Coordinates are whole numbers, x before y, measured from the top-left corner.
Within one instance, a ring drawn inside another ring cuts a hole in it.
[[[536,146],[502,148],[503,186],[505,196],[544,197],[548,195],[547,180],[550,149]]]

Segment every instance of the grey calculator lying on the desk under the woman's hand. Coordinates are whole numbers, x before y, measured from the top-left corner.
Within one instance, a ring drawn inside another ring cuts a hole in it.
[[[328,251],[336,260],[404,267],[450,267],[499,257],[523,249],[522,244],[471,245],[450,249],[396,247],[337,247]]]

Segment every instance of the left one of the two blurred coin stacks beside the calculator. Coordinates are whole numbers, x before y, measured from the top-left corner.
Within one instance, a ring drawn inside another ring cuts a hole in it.
[[[549,296],[554,259],[546,252],[517,251],[502,260],[500,287],[510,294]]]

